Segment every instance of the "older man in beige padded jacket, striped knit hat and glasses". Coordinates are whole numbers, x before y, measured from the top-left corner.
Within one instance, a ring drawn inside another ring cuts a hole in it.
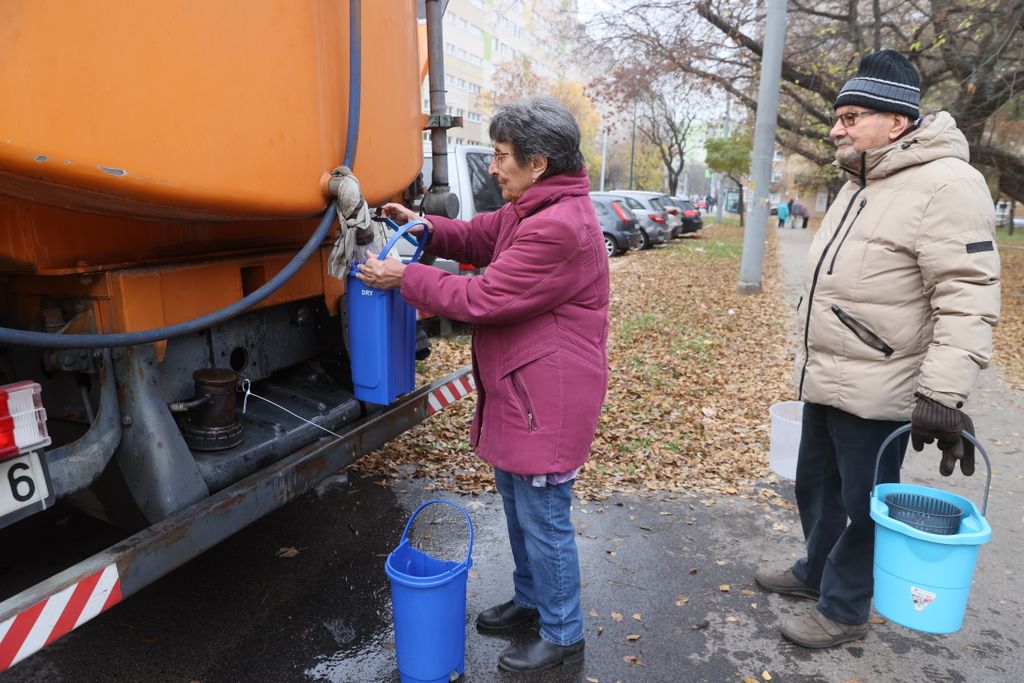
[[[847,182],[811,245],[795,376],[805,401],[797,505],[806,556],[762,567],[764,589],[816,604],[782,621],[804,647],[863,638],[873,590],[869,497],[885,438],[911,424],[938,441],[941,474],[974,473],[964,409],[999,314],[995,216],[946,112],[919,120],[920,78],[899,52],[863,57],[836,99],[829,137]],[[899,481],[907,438],[882,454]]]

